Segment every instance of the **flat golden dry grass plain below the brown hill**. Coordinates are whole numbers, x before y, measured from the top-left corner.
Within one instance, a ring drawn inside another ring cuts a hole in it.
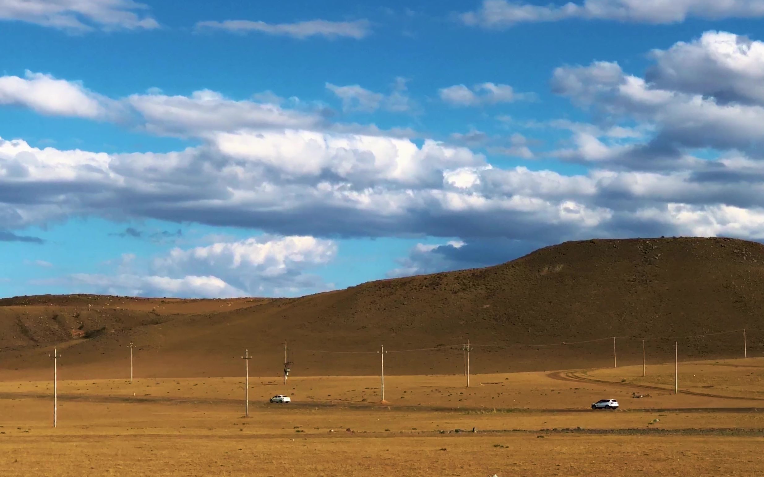
[[[0,382],[2,475],[756,475],[764,359],[465,377]],[[138,371],[138,370],[137,370]],[[137,373],[140,375],[140,373]],[[0,379],[3,378],[0,373]],[[626,380],[623,382],[623,380]],[[709,387],[713,386],[713,388]],[[664,388],[664,389],[659,389]],[[633,392],[649,398],[631,398]],[[293,404],[267,404],[285,393]],[[619,411],[591,411],[617,398]],[[476,433],[472,433],[475,427]],[[348,430],[349,429],[349,430]],[[467,432],[455,432],[456,429]]]

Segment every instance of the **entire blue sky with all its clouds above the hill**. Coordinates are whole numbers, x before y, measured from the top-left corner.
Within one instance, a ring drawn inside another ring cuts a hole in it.
[[[0,296],[764,240],[764,0],[0,0]]]

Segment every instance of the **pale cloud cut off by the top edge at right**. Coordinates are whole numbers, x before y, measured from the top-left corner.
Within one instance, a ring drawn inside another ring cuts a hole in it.
[[[459,15],[465,24],[485,28],[504,28],[520,23],[561,21],[568,18],[671,24],[687,18],[716,20],[761,17],[764,17],[762,0],[584,0],[564,5],[484,0],[478,10]]]

